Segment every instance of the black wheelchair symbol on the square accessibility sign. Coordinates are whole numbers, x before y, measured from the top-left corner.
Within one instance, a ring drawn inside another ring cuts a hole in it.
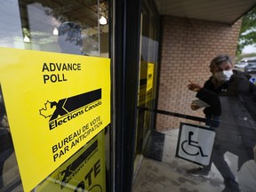
[[[201,156],[207,156],[207,155],[204,155],[203,153],[203,150],[202,148],[198,145],[198,142],[195,141],[195,140],[192,140],[192,135],[194,134],[194,132],[188,132],[188,140],[184,140],[182,143],[181,143],[181,148],[182,150],[188,154],[189,156],[198,156],[199,154],[201,154]],[[188,149],[191,147],[192,148],[196,148],[195,149],[192,149],[192,152],[190,151],[187,151],[184,147],[187,147]]]

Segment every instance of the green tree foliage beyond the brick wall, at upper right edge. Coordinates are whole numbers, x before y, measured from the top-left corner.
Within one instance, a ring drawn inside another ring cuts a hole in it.
[[[240,55],[244,46],[256,44],[256,6],[243,16],[236,55]]]

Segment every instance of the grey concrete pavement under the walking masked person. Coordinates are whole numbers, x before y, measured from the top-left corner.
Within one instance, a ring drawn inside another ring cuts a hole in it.
[[[214,164],[212,164],[210,178],[205,179],[187,173],[188,169],[198,167],[197,164],[175,157],[179,129],[161,133],[164,134],[162,159],[159,161],[159,157],[154,156],[140,158],[140,169],[136,172],[133,192],[220,192],[223,190],[222,177]],[[157,154],[160,154],[159,151]],[[247,162],[239,172],[236,172],[237,156],[226,153],[225,158],[236,175],[241,191],[255,192],[255,162],[253,160]]]

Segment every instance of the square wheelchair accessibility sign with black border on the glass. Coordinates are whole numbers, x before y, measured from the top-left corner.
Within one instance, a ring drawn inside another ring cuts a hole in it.
[[[207,126],[180,123],[176,156],[196,164],[208,165],[215,132]]]

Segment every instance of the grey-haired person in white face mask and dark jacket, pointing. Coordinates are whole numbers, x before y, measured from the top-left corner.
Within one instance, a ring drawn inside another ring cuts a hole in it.
[[[194,176],[209,178],[212,163],[224,179],[223,192],[240,191],[235,175],[225,161],[224,154],[230,152],[238,156],[238,171],[242,165],[253,159],[256,144],[256,86],[244,72],[232,70],[228,55],[215,57],[210,64],[212,76],[204,87],[190,82],[188,90],[197,92],[196,97],[210,107],[204,108],[210,125],[216,132],[209,165],[188,170]],[[197,109],[191,104],[192,109]]]

